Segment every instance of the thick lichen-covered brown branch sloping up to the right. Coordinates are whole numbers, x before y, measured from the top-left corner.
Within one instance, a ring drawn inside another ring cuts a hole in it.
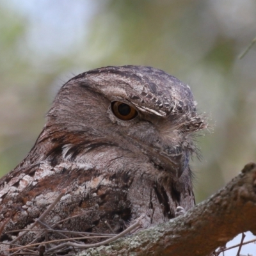
[[[168,223],[122,237],[85,255],[209,255],[241,232],[256,233],[256,164],[225,188]]]

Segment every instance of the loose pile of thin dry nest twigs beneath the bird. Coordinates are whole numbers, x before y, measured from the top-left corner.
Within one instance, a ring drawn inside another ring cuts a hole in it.
[[[39,255],[39,256],[46,256],[46,255],[58,255],[61,253],[68,253],[72,251],[72,253],[76,253],[77,250],[81,249],[86,249],[86,248],[91,248],[91,247],[97,247],[100,245],[104,244],[109,244],[116,239],[125,236],[129,234],[131,231],[135,230],[136,228],[140,227],[140,223],[142,218],[144,216],[141,216],[138,218],[138,220],[133,223],[130,227],[125,229],[123,232],[120,234],[97,234],[97,233],[90,233],[90,232],[76,232],[76,231],[71,231],[71,230],[56,230],[53,229],[54,226],[57,225],[55,223],[52,227],[49,227],[47,224],[44,223],[44,219],[49,214],[49,212],[54,208],[56,204],[60,201],[61,197],[65,194],[65,191],[60,193],[60,195],[57,196],[57,198],[52,202],[51,205],[40,215],[38,219],[35,219],[35,222],[31,225],[30,228],[22,229],[22,230],[12,230],[8,233],[13,233],[13,232],[22,232],[19,236],[17,236],[15,239],[13,239],[10,243],[0,243],[4,245],[9,245],[10,248],[6,249],[3,253],[7,253],[7,255],[14,256],[14,255]],[[10,220],[10,218],[8,218]],[[3,232],[3,228],[8,222],[8,220],[4,221],[2,227],[0,227],[0,235]],[[108,225],[108,223],[106,223]],[[42,227],[42,228],[35,228],[35,227]],[[108,225],[109,229],[111,232],[113,230],[111,227]],[[40,235],[36,236],[31,243],[26,244],[26,245],[20,245],[17,244],[17,242],[28,234],[29,231],[39,231]],[[36,243],[38,238],[42,237],[42,234],[45,236],[45,241],[42,241],[40,243]],[[60,239],[54,239],[54,240],[49,240],[48,234],[56,234],[58,237],[61,237]],[[71,236],[76,236],[76,237],[71,237]],[[80,240],[84,239],[105,239],[104,241],[101,241],[99,243],[92,243],[92,244],[85,244],[81,242]]]

